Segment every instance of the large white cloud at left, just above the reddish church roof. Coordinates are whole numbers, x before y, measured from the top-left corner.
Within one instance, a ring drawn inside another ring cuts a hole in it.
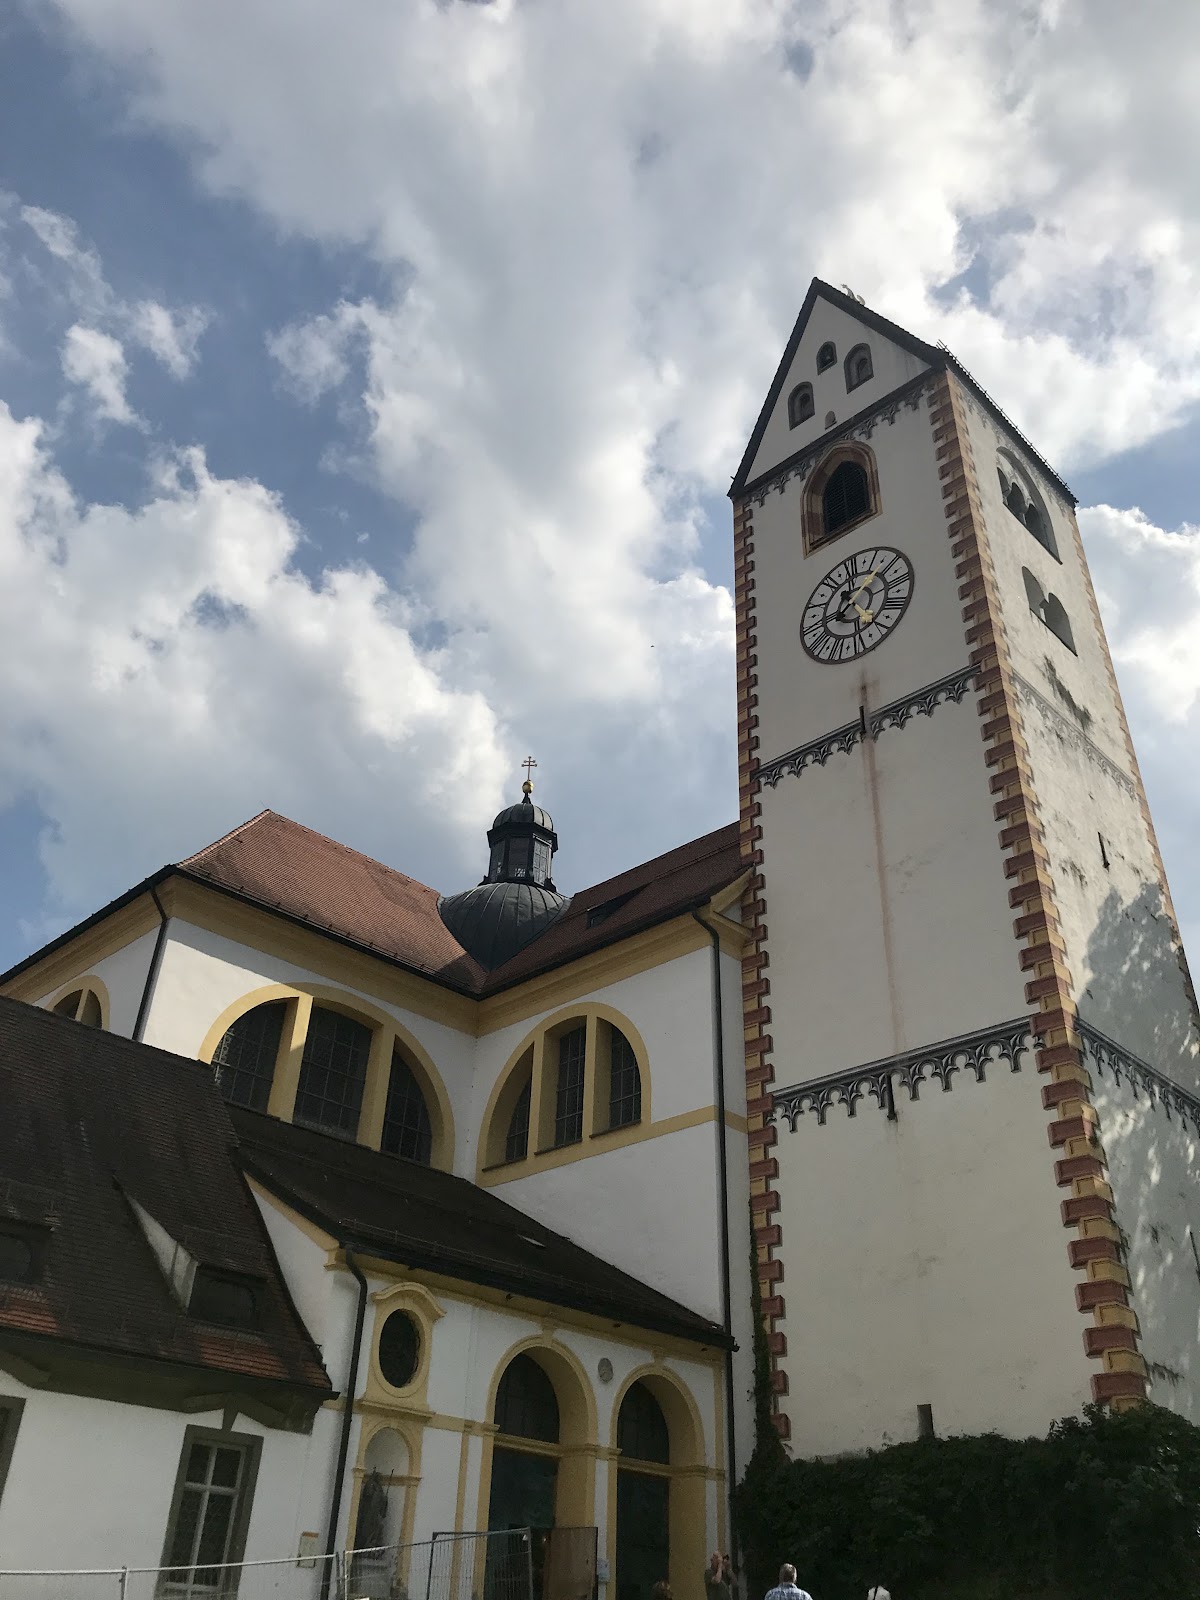
[[[38,424],[0,405],[0,800],[34,794],[53,819],[59,904],[120,886],[114,859],[144,872],[264,803],[442,861],[499,805],[483,696],[414,643],[371,568],[309,582],[298,538],[200,451],[138,512],[78,506]]]

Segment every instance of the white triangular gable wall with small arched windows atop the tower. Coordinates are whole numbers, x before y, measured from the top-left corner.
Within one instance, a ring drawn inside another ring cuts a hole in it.
[[[826,339],[832,339],[837,346],[837,363],[824,373],[818,373],[816,352]],[[858,389],[851,389],[846,394],[846,373],[842,363],[856,344],[870,346],[874,376],[866,384],[859,384]],[[838,422],[846,422],[851,416],[858,416],[859,411],[874,405],[882,395],[891,394],[893,389],[907,384],[910,378],[915,378],[922,371],[925,371],[925,362],[918,357],[902,350],[891,339],[885,339],[882,333],[864,326],[850,312],[832,306],[826,299],[818,299],[808,318],[808,328],[792,357],[792,366],[779,390],[774,411],[755,451],[750,478],[770,472],[771,467],[794,456],[797,450],[803,450],[805,445],[811,445],[813,440],[819,438],[826,432],[826,414],[829,411],[835,413]],[[800,382],[811,382],[813,386],[814,416],[798,427],[789,427],[787,397]]]

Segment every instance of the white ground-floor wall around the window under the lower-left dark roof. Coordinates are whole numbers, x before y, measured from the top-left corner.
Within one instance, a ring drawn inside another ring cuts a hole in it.
[[[3,1499],[0,1566],[157,1566],[184,1434],[219,1429],[222,1413],[178,1413],[27,1389],[8,1374],[0,1394],[24,1397]],[[262,1438],[246,1560],[294,1555],[323,1528],[333,1413],[312,1435],[264,1429],[245,1416],[234,1434]]]

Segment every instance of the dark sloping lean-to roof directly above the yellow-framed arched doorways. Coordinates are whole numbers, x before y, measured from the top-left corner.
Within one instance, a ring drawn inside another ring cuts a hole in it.
[[[723,1330],[466,1178],[230,1107],[242,1162],[363,1253],[725,1347]]]

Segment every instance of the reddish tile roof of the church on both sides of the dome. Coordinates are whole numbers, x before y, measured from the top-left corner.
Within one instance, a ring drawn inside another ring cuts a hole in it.
[[[738,824],[731,822],[574,894],[544,934],[485,973],[443,925],[437,890],[277,811],[261,811],[178,866],[189,877],[475,995],[702,906],[742,870]],[[600,915],[606,906],[613,909]]]

